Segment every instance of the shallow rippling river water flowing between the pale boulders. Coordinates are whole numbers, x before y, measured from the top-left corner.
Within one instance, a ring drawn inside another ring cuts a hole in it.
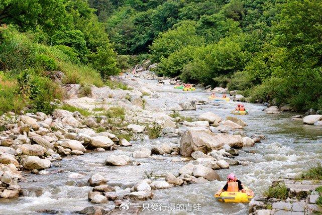
[[[183,101],[188,98],[207,100],[209,93],[197,89],[183,92],[173,89],[173,85],[157,84],[155,80],[141,80],[155,87],[160,93],[158,101]],[[239,102],[240,103],[240,102]],[[231,166],[229,169],[217,170],[225,178],[230,172],[255,193],[261,193],[277,178],[294,176],[301,171],[321,161],[322,129],[303,125],[302,121],[291,121],[295,114],[267,115],[259,104],[244,103],[249,115],[238,116],[248,126],[243,130],[248,136],[264,134],[266,139],[254,147],[243,148],[236,158],[245,165]],[[212,103],[198,105],[196,111],[185,111],[183,116],[197,117],[205,112],[213,112],[223,118],[230,115],[237,102],[220,102],[219,106]],[[133,141],[133,147],[123,147],[117,151],[90,152],[82,156],[69,156],[47,169],[48,175],[33,175],[24,173],[25,180],[21,186],[27,190],[26,196],[12,200],[0,200],[0,214],[47,214],[47,211],[59,211],[61,214],[73,214],[92,204],[87,200],[87,193],[91,187],[86,186],[87,179],[92,174],[101,174],[109,179],[109,184],[121,189],[132,187],[143,179],[144,172],[153,171],[154,174],[172,172],[177,175],[178,170],[186,164],[176,161],[177,156],[157,159],[136,159],[139,166],[111,167],[103,165],[108,155],[126,154],[140,147],[151,148],[161,143],[178,142],[179,139],[158,138],[155,140]],[[160,156],[162,157],[162,156]],[[81,179],[69,179],[70,173],[82,173]],[[225,181],[212,181],[204,184],[190,184],[164,190],[155,190],[152,200],[144,201],[143,214],[248,214],[248,205],[242,203],[225,204],[216,201],[213,194],[224,186]],[[163,207],[172,204],[178,209]],[[113,202],[106,205],[113,206]],[[157,208],[156,205],[162,205]],[[183,206],[183,208],[182,208]],[[195,207],[193,207],[195,206]],[[191,210],[190,210],[191,207]],[[180,210],[181,209],[181,210]]]

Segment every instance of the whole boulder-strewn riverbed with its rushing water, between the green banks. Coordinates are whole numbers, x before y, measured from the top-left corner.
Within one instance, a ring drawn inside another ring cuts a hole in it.
[[[87,117],[59,109],[2,116],[1,214],[247,214],[246,204],[213,198],[228,173],[261,193],[321,160],[318,116],[305,125],[277,107],[244,103],[250,115],[236,117],[230,112],[242,95],[212,102],[211,88],[183,92],[148,71],[117,79],[133,89],[92,86],[79,97],[79,85],[65,86],[64,102]],[[106,116],[113,107],[125,115]]]

